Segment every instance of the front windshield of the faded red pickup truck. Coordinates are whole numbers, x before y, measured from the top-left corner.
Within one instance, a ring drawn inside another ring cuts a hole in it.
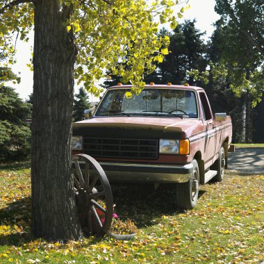
[[[108,90],[94,116],[169,116],[197,118],[195,92],[176,89],[144,89],[126,97],[130,89]]]

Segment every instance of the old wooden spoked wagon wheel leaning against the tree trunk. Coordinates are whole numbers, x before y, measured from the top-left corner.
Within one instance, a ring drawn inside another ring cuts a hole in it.
[[[91,156],[72,157],[76,205],[85,235],[103,236],[113,218],[113,196],[101,165]]]

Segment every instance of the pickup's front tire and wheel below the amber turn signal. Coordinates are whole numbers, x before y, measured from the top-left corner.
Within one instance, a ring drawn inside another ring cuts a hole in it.
[[[192,176],[187,183],[176,184],[176,206],[190,210],[197,204],[199,192],[199,167],[197,160],[192,160]]]

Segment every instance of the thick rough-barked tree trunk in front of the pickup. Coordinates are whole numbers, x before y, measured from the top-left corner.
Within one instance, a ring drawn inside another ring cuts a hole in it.
[[[32,231],[49,240],[81,236],[70,147],[76,47],[63,26],[71,14],[59,1],[35,1]]]

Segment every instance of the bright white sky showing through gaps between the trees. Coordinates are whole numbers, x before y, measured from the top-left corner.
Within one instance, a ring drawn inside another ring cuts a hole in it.
[[[185,11],[183,19],[196,19],[196,26],[200,31],[206,31],[205,38],[209,38],[213,32],[213,23],[219,19],[219,15],[215,13],[215,0],[190,0],[190,9]],[[21,83],[14,85],[8,83],[9,86],[15,88],[19,97],[28,99],[28,95],[33,92],[33,72],[26,66],[30,63],[31,53],[33,52],[33,33],[28,43],[17,40],[17,63],[13,65],[12,69],[15,74],[21,77]],[[19,74],[20,72],[20,74]],[[75,92],[78,88],[75,88]],[[97,101],[98,99],[90,96],[90,101]]]

